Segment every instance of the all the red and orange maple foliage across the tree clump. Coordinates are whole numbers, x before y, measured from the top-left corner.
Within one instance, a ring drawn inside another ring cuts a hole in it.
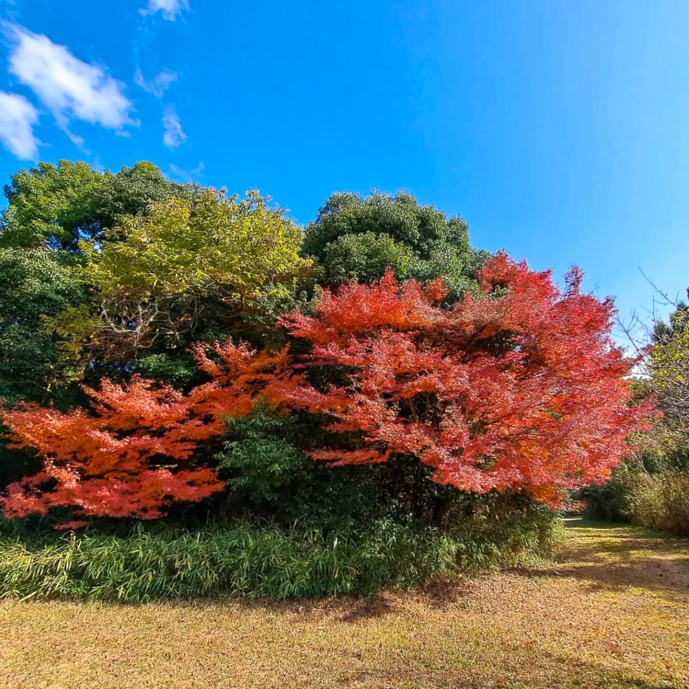
[[[202,500],[223,482],[194,457],[259,396],[278,411],[329,416],[335,440],[311,454],[336,464],[411,455],[462,491],[513,489],[544,502],[604,480],[651,413],[628,404],[633,362],[610,338],[613,302],[581,294],[577,269],[561,292],[549,272],[504,254],[478,277],[482,294],[453,309],[440,305],[442,280],[400,285],[391,272],[325,291],[316,317],[281,319],[311,345],[296,364],[286,350],[227,340],[194,349],[211,382],[188,395],[141,378],[103,380],[85,389],[89,411],[5,413],[13,446],[35,449],[43,471],[12,484],[3,508],[150,519]],[[315,383],[325,379],[335,382]]]

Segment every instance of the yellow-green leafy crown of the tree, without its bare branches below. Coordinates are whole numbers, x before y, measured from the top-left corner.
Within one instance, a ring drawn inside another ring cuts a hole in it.
[[[309,264],[302,230],[257,192],[227,198],[207,191],[195,202],[169,198],[147,216],[126,216],[103,247],[82,244],[85,276],[119,299],[159,296],[241,298],[276,287]]]

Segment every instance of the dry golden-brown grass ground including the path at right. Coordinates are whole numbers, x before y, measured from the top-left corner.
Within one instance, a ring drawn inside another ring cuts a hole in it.
[[[0,687],[689,687],[689,542],[566,534],[554,563],[360,601],[3,601]]]

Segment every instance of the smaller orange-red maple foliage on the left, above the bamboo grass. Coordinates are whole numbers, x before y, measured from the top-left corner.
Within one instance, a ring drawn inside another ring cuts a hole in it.
[[[202,444],[222,438],[225,417],[249,412],[256,395],[275,404],[274,385],[287,353],[255,353],[232,340],[197,346],[196,360],[212,381],[189,395],[135,377],[85,388],[92,409],[68,413],[30,404],[7,412],[11,446],[33,448],[43,471],[9,486],[10,516],[68,506],[79,516],[153,519],[172,502],[196,502],[224,488],[213,469],[194,466]],[[79,522],[70,522],[71,527]]]

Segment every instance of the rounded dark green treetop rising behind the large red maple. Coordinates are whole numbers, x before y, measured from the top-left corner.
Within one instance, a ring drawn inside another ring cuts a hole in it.
[[[473,273],[488,258],[471,248],[460,216],[447,218],[406,192],[331,194],[307,227],[304,252],[316,258],[327,282],[373,280],[389,265],[397,278],[444,276],[450,300],[473,289]]]

